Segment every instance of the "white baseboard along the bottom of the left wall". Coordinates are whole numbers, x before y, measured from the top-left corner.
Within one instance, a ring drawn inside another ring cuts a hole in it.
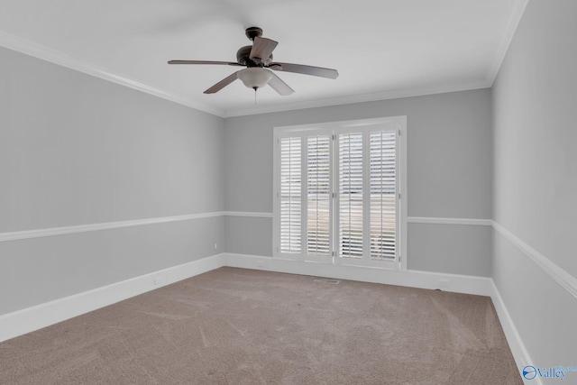
[[[222,267],[222,254],[0,316],[0,342]]]

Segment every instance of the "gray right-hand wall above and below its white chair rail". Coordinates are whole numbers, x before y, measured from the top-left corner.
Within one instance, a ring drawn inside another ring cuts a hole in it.
[[[573,277],[575,36],[577,2],[530,1],[493,87],[494,219]],[[532,363],[577,361],[577,299],[497,232],[493,254],[493,280]]]

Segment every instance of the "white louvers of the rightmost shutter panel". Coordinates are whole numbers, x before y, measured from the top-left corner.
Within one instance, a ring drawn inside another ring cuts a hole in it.
[[[370,135],[371,260],[396,258],[396,138],[396,131]]]

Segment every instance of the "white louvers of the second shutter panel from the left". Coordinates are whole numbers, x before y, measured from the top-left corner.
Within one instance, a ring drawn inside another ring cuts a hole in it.
[[[307,252],[330,253],[330,135],[307,138]]]

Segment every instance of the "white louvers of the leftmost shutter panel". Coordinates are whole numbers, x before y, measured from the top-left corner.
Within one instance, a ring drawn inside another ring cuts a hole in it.
[[[301,252],[301,138],[280,140],[280,252]]]

